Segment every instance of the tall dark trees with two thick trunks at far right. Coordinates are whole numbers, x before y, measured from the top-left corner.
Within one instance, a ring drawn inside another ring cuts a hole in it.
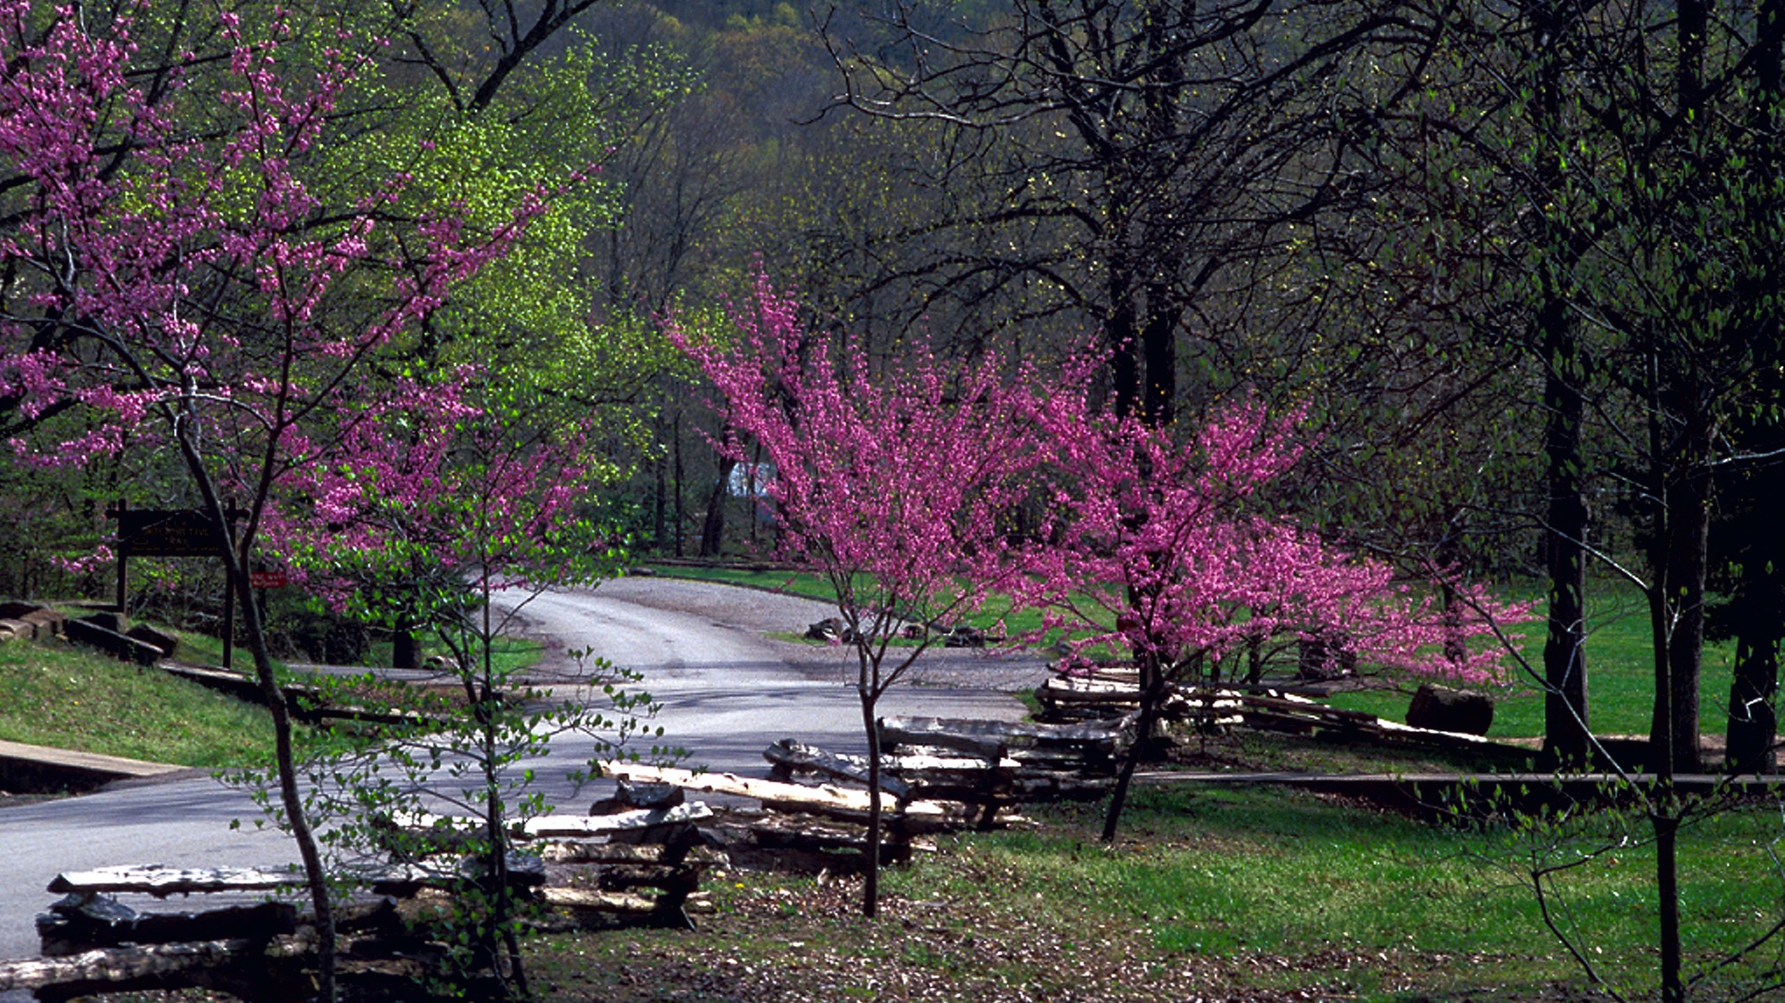
[[[1701,762],[1714,471],[1764,455],[1739,443],[1731,421],[1778,403],[1765,378],[1780,352],[1767,277],[1780,266],[1781,223],[1776,173],[1760,166],[1776,148],[1767,68],[1780,27],[1706,20],[1698,5],[1674,14],[1649,4],[1533,4],[1505,20],[1478,11],[1453,25],[1465,54],[1458,73],[1494,84],[1467,114],[1430,121],[1480,157],[1478,193],[1508,196],[1483,227],[1503,236],[1482,250],[1503,262],[1490,296],[1523,311],[1542,378],[1546,675],[1576,705],[1553,716],[1551,737],[1580,751],[1582,730],[1567,726],[1583,717],[1583,694],[1567,691],[1582,675],[1573,596],[1590,553],[1583,484],[1599,473],[1623,485],[1640,526],[1656,758],[1690,771]],[[1589,437],[1603,443],[1598,453]]]

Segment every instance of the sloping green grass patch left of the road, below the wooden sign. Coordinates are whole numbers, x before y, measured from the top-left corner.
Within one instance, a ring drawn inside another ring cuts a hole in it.
[[[0,644],[0,739],[178,766],[268,758],[264,709],[62,642]]]

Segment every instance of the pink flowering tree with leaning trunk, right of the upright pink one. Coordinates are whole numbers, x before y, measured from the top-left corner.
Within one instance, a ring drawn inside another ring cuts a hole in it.
[[[1299,414],[1271,418],[1241,403],[1178,441],[1167,428],[1100,414],[1080,393],[1055,393],[1035,421],[1053,450],[1055,526],[1028,555],[1021,600],[1051,610],[1080,651],[1114,648],[1139,671],[1141,741],[1123,764],[1103,839],[1116,837],[1169,685],[1217,680],[1232,655],[1296,644],[1330,667],[1501,678],[1494,623],[1523,609],[1465,589],[1469,601],[1446,612],[1435,587],[1401,582],[1271,510],[1267,487],[1301,455]]]

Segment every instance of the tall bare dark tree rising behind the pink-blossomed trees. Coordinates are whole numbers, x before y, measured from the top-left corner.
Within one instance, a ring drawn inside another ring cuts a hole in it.
[[[951,182],[1003,189],[937,227],[1007,239],[932,268],[1039,278],[1107,339],[1117,410],[1153,423],[1180,405],[1185,339],[1237,343],[1216,302],[1244,303],[1292,225],[1355,195],[1344,152],[1367,107],[1348,73],[1407,41],[1369,4],[1025,0],[946,39],[905,14],[898,57],[834,39],[844,100],[930,123]],[[1055,239],[1026,239],[1041,225]]]

